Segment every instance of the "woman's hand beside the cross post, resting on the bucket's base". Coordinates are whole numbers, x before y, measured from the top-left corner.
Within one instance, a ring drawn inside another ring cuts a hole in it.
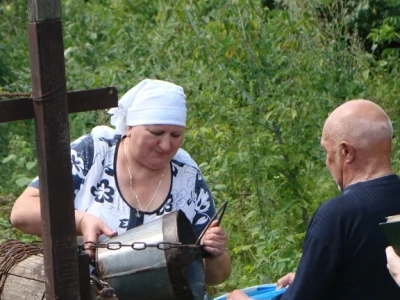
[[[107,237],[113,237],[118,235],[118,232],[115,230],[111,230],[110,227],[106,225],[101,219],[97,218],[94,215],[89,213],[78,213],[79,217],[77,218],[77,232],[82,235],[83,243],[85,242],[93,242],[97,243],[99,240],[99,236],[106,235]],[[91,244],[85,244],[85,248],[90,248]],[[90,257],[94,257],[95,251],[94,249],[86,249],[85,250]]]

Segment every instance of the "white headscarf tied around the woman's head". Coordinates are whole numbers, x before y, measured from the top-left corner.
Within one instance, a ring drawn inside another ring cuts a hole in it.
[[[111,124],[116,133],[124,135],[127,126],[178,125],[186,126],[186,95],[183,88],[168,81],[145,79],[130,89],[118,101]]]

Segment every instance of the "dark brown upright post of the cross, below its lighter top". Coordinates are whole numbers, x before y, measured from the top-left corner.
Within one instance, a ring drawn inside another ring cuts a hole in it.
[[[44,1],[46,2],[46,1]],[[29,1],[30,5],[32,1]],[[31,7],[31,6],[30,6]],[[46,297],[80,299],[61,20],[28,24]]]

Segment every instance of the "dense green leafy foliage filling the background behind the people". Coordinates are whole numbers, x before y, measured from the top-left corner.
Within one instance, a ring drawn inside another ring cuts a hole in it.
[[[184,148],[200,164],[217,206],[229,201],[222,225],[234,272],[218,292],[295,270],[312,213],[337,193],[319,145],[329,111],[367,98],[398,128],[398,56],[376,60],[347,30],[349,13],[321,18],[321,5],[333,2],[321,3],[63,1],[70,90],[116,86],[123,94],[146,77],[184,86]],[[14,46],[0,43],[0,58],[10,66],[0,70],[0,89],[26,92],[26,3],[2,3],[0,11],[6,5],[13,10],[4,17],[15,22],[1,23],[0,34],[15,27],[18,36],[7,35]],[[378,44],[397,38],[380,30],[371,31]],[[7,47],[17,49],[1,52]],[[71,138],[107,123],[104,111],[74,114]],[[0,194],[17,195],[18,183],[35,176],[33,132],[30,121],[0,124]],[[395,139],[395,169],[398,145]]]

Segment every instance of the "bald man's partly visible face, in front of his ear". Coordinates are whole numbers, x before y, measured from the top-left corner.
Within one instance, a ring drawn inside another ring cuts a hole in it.
[[[343,168],[341,166],[340,153],[338,145],[335,145],[331,139],[327,139],[326,135],[322,135],[321,147],[326,152],[325,164],[329,172],[335,180],[339,191],[343,190]]]

